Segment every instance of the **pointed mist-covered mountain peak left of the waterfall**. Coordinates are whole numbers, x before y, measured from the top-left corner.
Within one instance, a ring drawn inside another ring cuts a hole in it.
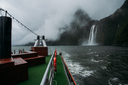
[[[67,26],[64,33],[61,34],[60,38],[54,42],[50,41],[48,44],[53,45],[79,45],[85,39],[88,40],[90,28],[95,23],[95,20],[91,20],[86,12],[78,9],[74,14],[74,19]]]

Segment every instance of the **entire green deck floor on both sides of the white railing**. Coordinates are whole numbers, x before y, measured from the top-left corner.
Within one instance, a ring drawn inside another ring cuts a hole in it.
[[[21,82],[17,85],[40,85],[50,58],[51,58],[51,55],[46,57],[45,64],[29,67],[28,80]],[[57,56],[57,72],[55,74],[54,80],[57,81],[57,85],[69,85],[60,56]],[[55,82],[53,82],[53,85],[56,85]]]

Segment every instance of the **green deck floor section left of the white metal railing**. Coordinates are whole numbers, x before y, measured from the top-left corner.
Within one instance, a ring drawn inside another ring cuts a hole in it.
[[[51,58],[51,55],[46,57],[45,64],[29,67],[28,68],[28,80],[21,82],[18,85],[40,85],[50,58]]]

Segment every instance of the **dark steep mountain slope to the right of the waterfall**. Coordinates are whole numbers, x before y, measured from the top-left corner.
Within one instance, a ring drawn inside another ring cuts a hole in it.
[[[97,42],[103,45],[128,45],[128,0],[114,14],[97,22]]]

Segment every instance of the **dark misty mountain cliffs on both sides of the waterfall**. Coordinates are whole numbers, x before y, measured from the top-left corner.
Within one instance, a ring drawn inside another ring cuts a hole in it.
[[[92,20],[83,10],[77,10],[70,25],[61,28],[64,32],[59,39],[48,41],[47,44],[81,45],[83,42],[86,43],[92,25],[97,28],[96,43],[99,45],[128,45],[128,0],[114,14],[99,21]]]

